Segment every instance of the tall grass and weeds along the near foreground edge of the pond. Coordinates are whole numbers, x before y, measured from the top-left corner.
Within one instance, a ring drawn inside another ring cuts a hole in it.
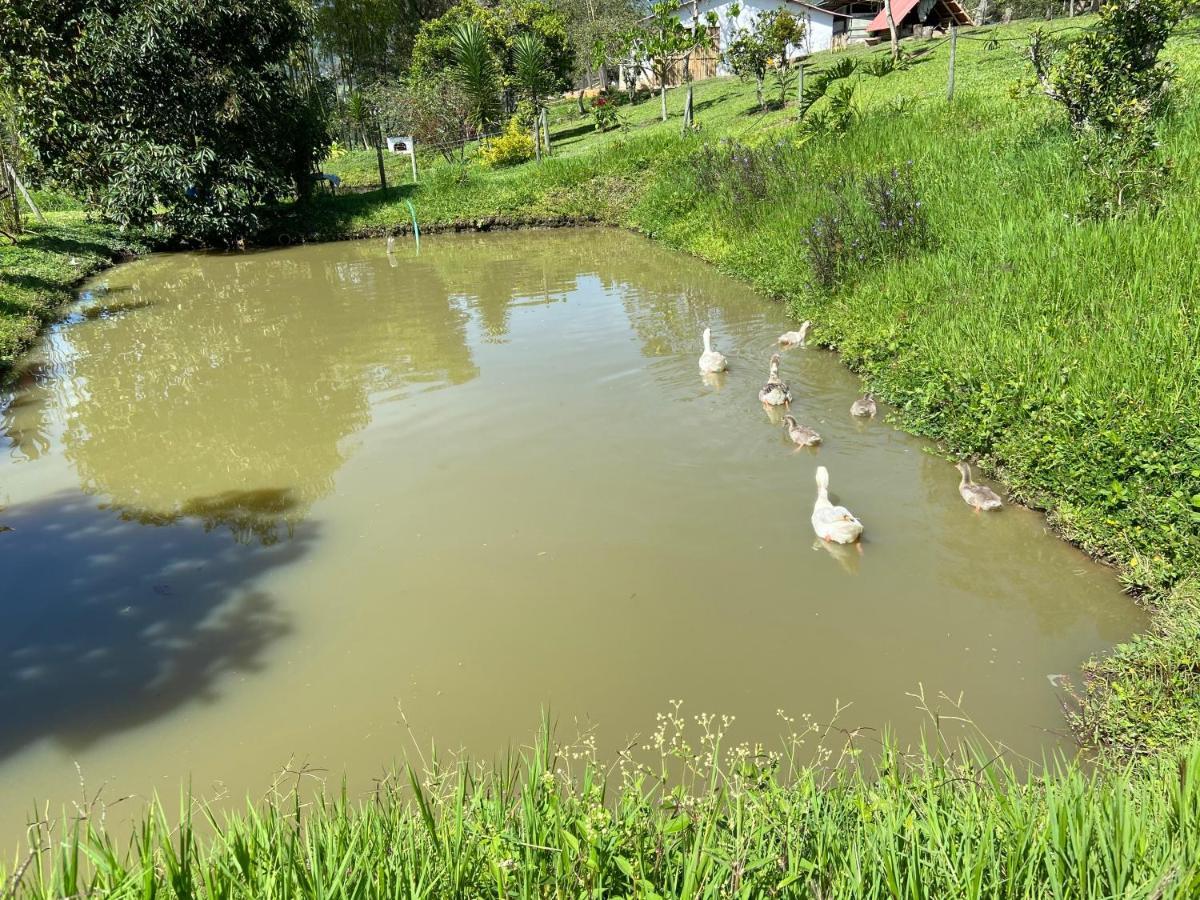
[[[1200,892],[1200,751],[1152,778],[1025,778],[935,743],[860,762],[810,722],[778,751],[662,716],[610,768],[542,728],[520,757],[394,773],[365,798],[292,770],[218,816],[151,804],[118,845],[95,804],[30,828],[13,898],[1146,898]],[[802,763],[805,742],[816,745]],[[311,773],[307,773],[311,775]],[[200,836],[205,834],[208,836]]]

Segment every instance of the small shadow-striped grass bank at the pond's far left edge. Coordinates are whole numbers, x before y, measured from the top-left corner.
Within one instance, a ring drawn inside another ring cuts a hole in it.
[[[80,212],[48,212],[16,245],[0,239],[0,380],[80,278],[143,250]]]

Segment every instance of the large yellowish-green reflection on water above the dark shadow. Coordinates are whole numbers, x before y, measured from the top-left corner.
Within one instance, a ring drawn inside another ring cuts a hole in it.
[[[146,308],[70,330],[64,443],[86,491],[151,516],[204,518],[193,498],[266,484],[289,498],[286,532],[332,490],[372,394],[478,374],[467,314],[430,268],[263,253],[150,259],[121,280]]]

